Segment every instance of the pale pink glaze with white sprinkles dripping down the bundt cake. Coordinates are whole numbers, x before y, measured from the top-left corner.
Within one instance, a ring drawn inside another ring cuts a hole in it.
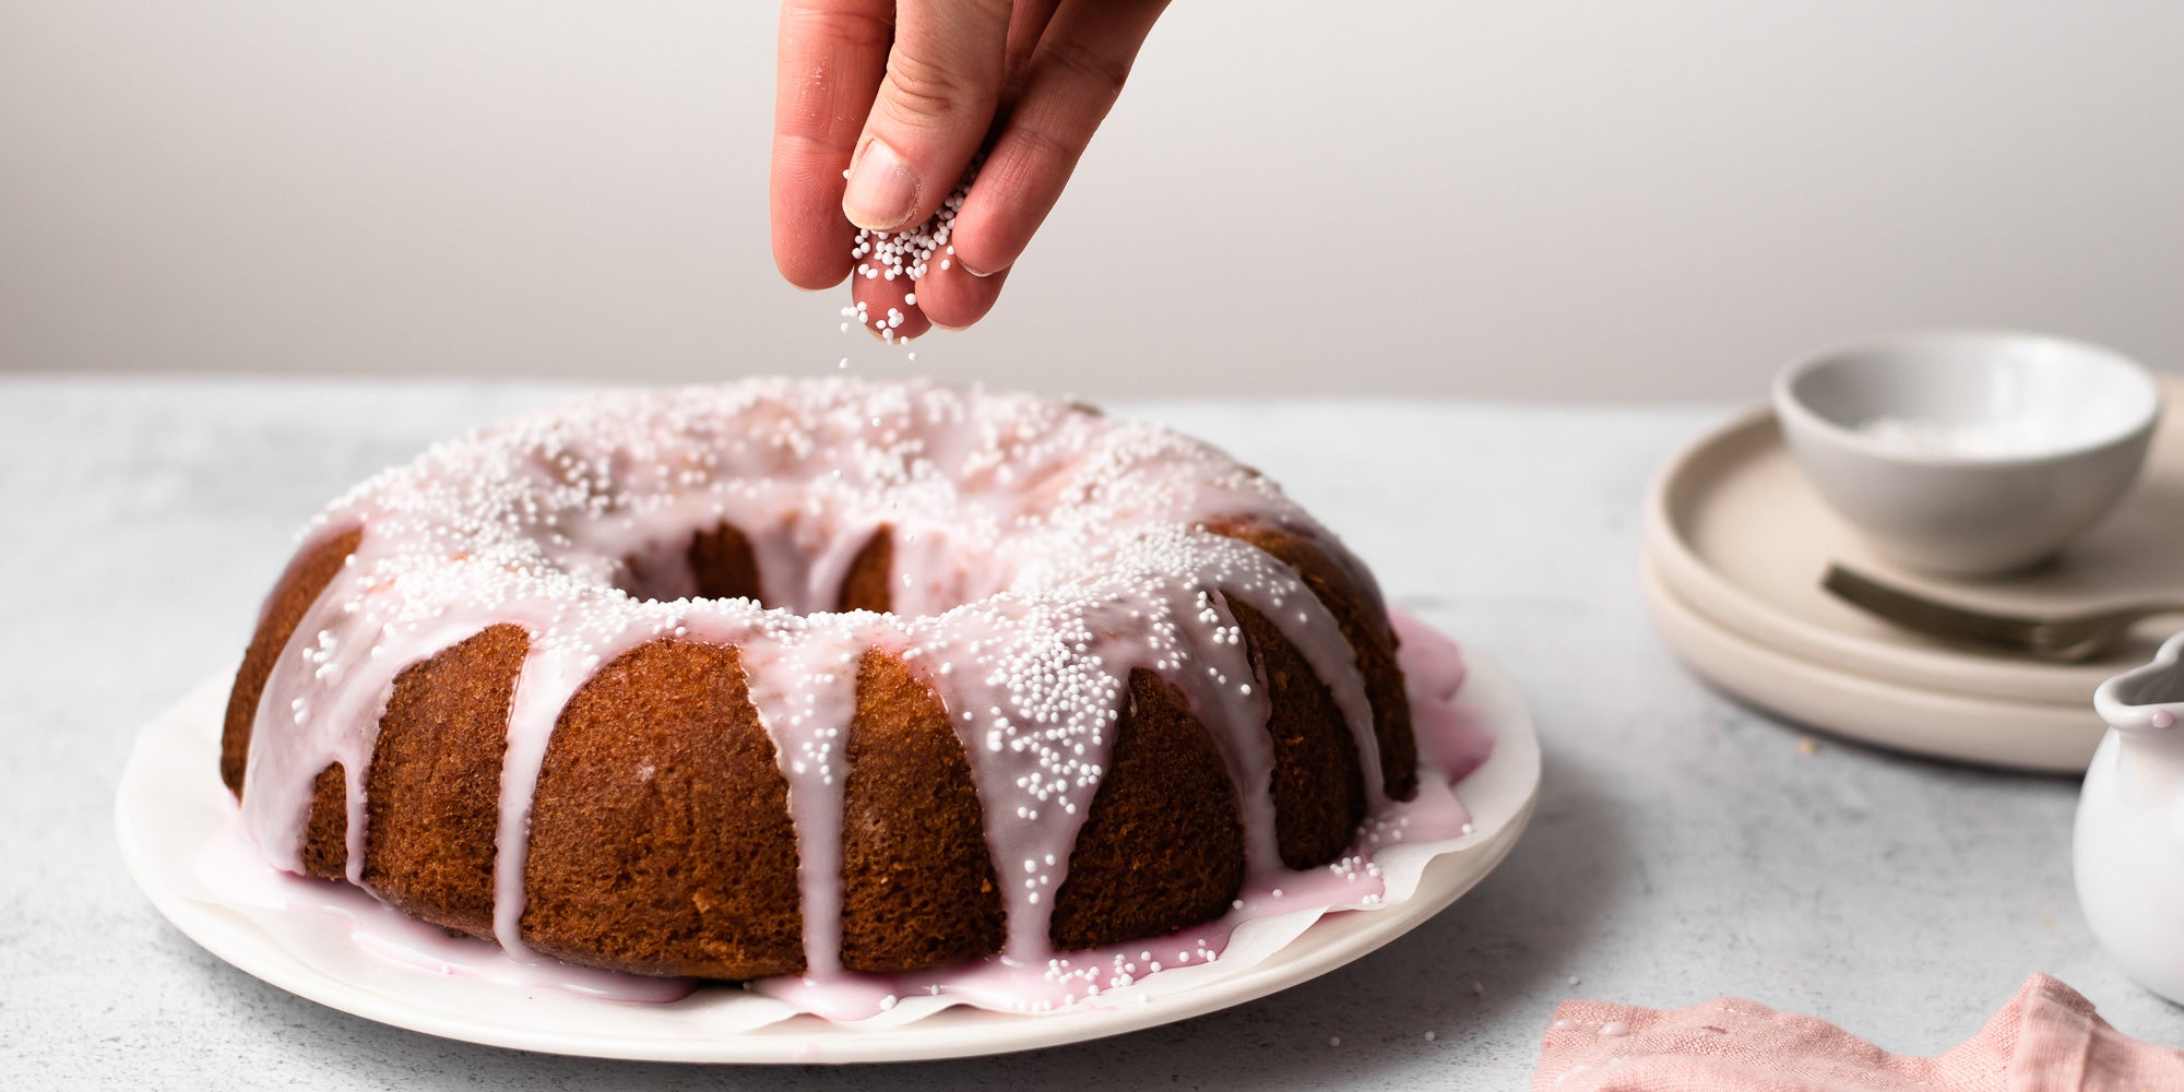
[[[1013,989],[1024,985],[1018,972],[1044,976],[1055,959],[1046,943],[1053,893],[1099,788],[1131,668],[1153,668],[1184,690],[1236,784],[1267,784],[1265,684],[1230,601],[1249,603],[1299,649],[1343,710],[1363,767],[1378,769],[1365,684],[1334,618],[1273,557],[1199,531],[1214,518],[1304,535],[1376,594],[1328,531],[1214,448],[1024,395],[751,380],[601,395],[500,424],[371,478],[306,531],[317,539],[363,526],[365,535],[266,681],[242,819],[266,860],[301,871],[312,778],[341,762],[349,880],[358,882],[363,775],[395,675],[485,627],[522,625],[531,653],[500,778],[494,919],[500,946],[526,959],[531,793],[559,710],[603,664],[649,640],[734,644],[788,780],[806,981],[867,996],[869,983],[839,965],[839,821],[856,662],[878,646],[922,670],[957,716],[1005,889],[1007,946],[989,965],[1016,968],[1000,974]],[[762,594],[778,609],[690,598],[681,550],[695,531],[723,520],[751,539]],[[895,609],[823,609],[882,526],[895,544]],[[1476,767],[1479,734],[1433,712],[1461,686],[1455,646],[1415,622],[1398,625],[1406,627],[1404,653],[1413,642],[1433,653],[1415,668],[1417,670],[1411,697],[1426,721],[1424,764]],[[1450,780],[1391,804],[1367,775],[1372,819],[1361,847],[1459,830]],[[1378,898],[1369,854],[1324,876],[1284,869],[1271,799],[1241,797],[1243,915]],[[1190,935],[1216,952],[1225,928]],[[1127,963],[1116,972],[1142,974]],[[1070,996],[1064,985],[1059,998]]]

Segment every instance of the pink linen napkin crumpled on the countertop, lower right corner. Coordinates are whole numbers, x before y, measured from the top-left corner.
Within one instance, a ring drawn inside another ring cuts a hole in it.
[[[2118,1033],[2092,1002],[2033,974],[1987,1026],[1939,1057],[1891,1055],[1815,1016],[1741,998],[1677,1011],[1566,1000],[1533,1092],[2031,1092],[2184,1090],[2184,1051]]]

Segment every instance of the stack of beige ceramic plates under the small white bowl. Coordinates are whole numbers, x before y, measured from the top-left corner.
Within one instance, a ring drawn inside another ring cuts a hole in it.
[[[2184,596],[2184,382],[2147,467],[2101,526],[2055,561],[2003,579],[1922,577],[1880,559],[1754,411],[1679,454],[1647,498],[1645,592],[1669,646],[1719,688],[1841,736],[1998,767],[2084,771],[2101,740],[2092,690],[2145,664],[2184,616],[2147,622],[2088,664],[1957,651],[1819,587],[1828,563],[1935,598],[2060,614]]]

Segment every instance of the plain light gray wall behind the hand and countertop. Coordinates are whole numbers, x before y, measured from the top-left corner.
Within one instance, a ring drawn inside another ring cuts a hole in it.
[[[0,369],[1756,397],[2184,363],[2184,4],[1177,0],[996,314],[771,266],[767,0],[0,0]]]

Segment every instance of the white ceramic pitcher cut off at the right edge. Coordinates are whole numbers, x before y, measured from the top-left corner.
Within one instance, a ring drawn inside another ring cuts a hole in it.
[[[2184,633],[2092,708],[2108,736],[2077,802],[2077,902],[2132,978],[2184,1005]]]

